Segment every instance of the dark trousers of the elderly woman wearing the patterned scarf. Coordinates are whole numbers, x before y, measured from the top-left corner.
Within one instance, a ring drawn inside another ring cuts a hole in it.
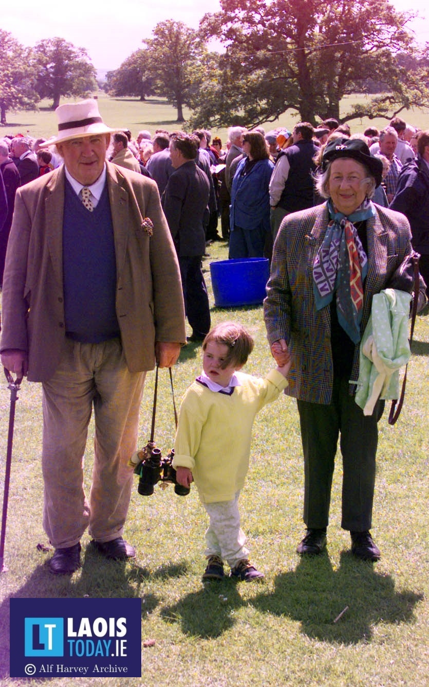
[[[347,378],[334,379],[332,403],[298,401],[304,454],[304,522],[308,528],[327,527],[334,459],[340,434],[343,456],[341,527],[364,532],[371,529],[375,484],[377,423],[384,401],[371,416],[364,416],[349,394]]]

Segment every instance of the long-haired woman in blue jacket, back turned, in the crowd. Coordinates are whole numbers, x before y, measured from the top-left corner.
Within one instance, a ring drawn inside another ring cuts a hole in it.
[[[268,185],[274,165],[262,133],[243,137],[245,157],[237,167],[231,187],[229,258],[262,258],[270,232]]]

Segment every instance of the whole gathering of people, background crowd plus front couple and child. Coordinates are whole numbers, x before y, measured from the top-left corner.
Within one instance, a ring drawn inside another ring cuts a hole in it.
[[[356,403],[360,341],[373,296],[412,249],[422,292],[429,281],[429,131],[394,117],[382,131],[351,133],[329,119],[292,132],[233,126],[222,146],[202,129],[134,139],[106,126],[92,99],[56,114],[51,139],[0,141],[1,363],[42,383],[51,572],[78,570],[86,528],[102,556],[135,556],[122,534],[144,380],[155,363],[174,365],[187,341],[202,343],[203,369],[181,407],[174,466],[180,484],[196,481],[209,514],[203,578],[222,578],[224,560],[241,580],[263,577],[237,500],[253,418],[282,391],[297,399],[303,442],[297,552],[325,549],[340,436],[341,525],[353,554],[377,561],[370,530],[386,396],[371,412]],[[270,261],[264,319],[277,370],[265,379],[240,372],[253,348],[246,330],[211,329],[202,258],[213,240],[228,241],[231,260]]]

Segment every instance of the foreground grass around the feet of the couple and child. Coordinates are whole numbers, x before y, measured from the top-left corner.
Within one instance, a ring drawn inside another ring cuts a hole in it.
[[[216,308],[209,262],[227,258],[227,246],[209,248],[204,269],[212,323],[238,319],[255,337],[246,371],[264,374],[268,353],[262,308]],[[264,584],[204,587],[201,574],[205,511],[193,487],[177,497],[172,487],[151,497],[132,494],[126,537],[137,549],[129,563],[100,561],[89,537],[82,540],[81,570],[51,576],[41,525],[42,417],[40,386],[25,381],[16,404],[12,480],[5,548],[8,572],[0,574],[0,683],[36,687],[40,679],[8,674],[9,599],[141,598],[142,677],[85,677],[102,687],[427,687],[429,684],[428,554],[429,317],[418,317],[408,365],[404,409],[397,425],[380,421],[373,535],[382,550],[375,565],[354,560],[340,529],[341,462],[332,489],[327,552],[299,559],[303,532],[303,459],[294,401],[282,396],[257,416],[251,469],[240,497],[243,528]],[[200,348],[183,348],[174,368],[179,401],[200,372]],[[141,407],[139,446],[150,436],[154,374],[148,374]],[[0,385],[0,460],[3,479],[10,392]],[[174,417],[168,375],[160,373],[155,439],[172,446]],[[93,425],[85,456],[89,485]],[[344,615],[334,622],[343,609]],[[144,647],[145,640],[154,646]],[[64,687],[70,678],[51,678]]]

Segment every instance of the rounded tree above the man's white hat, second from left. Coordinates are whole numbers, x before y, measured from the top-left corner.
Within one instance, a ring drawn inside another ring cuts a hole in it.
[[[64,38],[47,38],[34,47],[36,91],[40,98],[52,98],[52,109],[60,97],[87,95],[97,87],[96,71],[82,47]]]

